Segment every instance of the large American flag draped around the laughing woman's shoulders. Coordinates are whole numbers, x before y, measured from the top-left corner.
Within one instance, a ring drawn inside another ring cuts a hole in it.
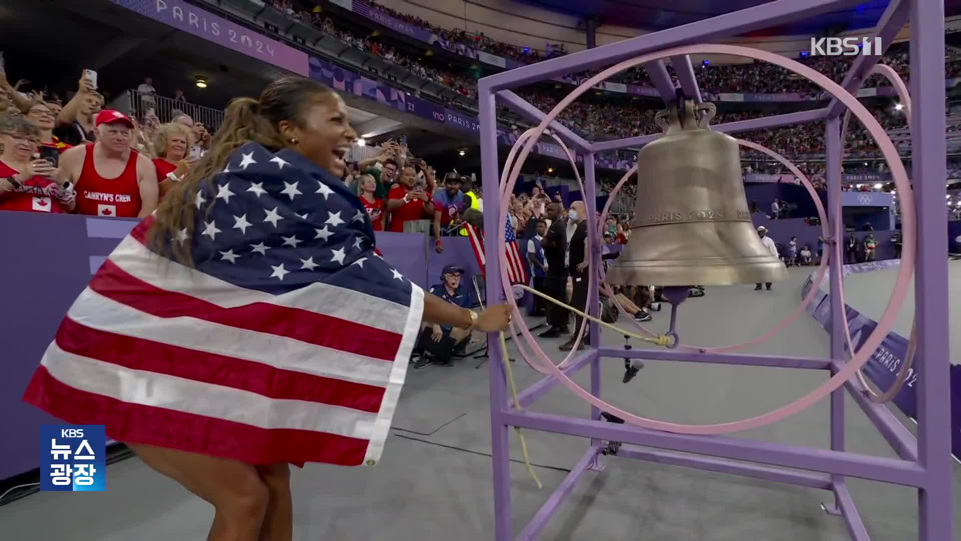
[[[193,268],[127,236],[24,399],[118,441],[251,464],[373,465],[423,291],[376,256],[357,196],[303,156],[239,148],[190,201]],[[160,250],[162,251],[162,250]]]

